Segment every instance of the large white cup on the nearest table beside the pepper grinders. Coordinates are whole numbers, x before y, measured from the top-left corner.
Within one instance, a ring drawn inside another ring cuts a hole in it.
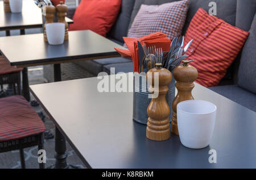
[[[177,126],[181,144],[200,149],[209,145],[217,107],[208,101],[188,100],[177,104]]]

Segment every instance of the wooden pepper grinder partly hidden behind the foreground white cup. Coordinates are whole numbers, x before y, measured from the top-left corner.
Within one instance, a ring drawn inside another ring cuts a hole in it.
[[[188,60],[184,60],[183,64],[174,69],[174,78],[176,79],[175,86],[177,88],[177,95],[172,101],[172,122],[171,132],[179,135],[177,128],[177,104],[181,101],[194,99],[191,91],[195,87],[194,81],[197,78],[197,70],[191,65],[188,65]]]

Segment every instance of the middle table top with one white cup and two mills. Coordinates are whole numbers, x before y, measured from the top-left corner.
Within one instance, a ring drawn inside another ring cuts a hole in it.
[[[119,56],[114,48],[123,48],[90,30],[68,33],[69,39],[61,45],[49,45],[44,41],[43,34],[0,37],[0,52],[10,65],[36,65]]]

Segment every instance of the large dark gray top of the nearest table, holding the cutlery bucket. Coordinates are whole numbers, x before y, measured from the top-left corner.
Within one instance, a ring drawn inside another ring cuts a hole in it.
[[[256,113],[196,83],[195,99],[217,106],[210,145],[189,149],[171,134],[146,138],[133,121],[133,93],[99,93],[100,79],[85,78],[30,86],[34,97],[92,168],[256,168]],[[217,152],[210,164],[209,150]]]

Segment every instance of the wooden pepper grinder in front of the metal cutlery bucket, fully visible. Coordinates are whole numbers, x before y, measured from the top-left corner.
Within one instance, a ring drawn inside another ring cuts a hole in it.
[[[154,94],[156,94],[156,91],[158,91],[158,97],[152,98],[150,104],[147,107],[148,122],[146,136],[150,140],[163,141],[169,139],[171,135],[169,123],[170,107],[166,101],[166,93],[168,91],[167,85],[171,82],[172,79],[172,74],[167,69],[161,68],[161,63],[156,63],[155,65],[156,68],[150,69],[147,72],[147,80],[151,85],[149,91]],[[154,89],[154,73],[158,73],[159,75],[158,89]]]

